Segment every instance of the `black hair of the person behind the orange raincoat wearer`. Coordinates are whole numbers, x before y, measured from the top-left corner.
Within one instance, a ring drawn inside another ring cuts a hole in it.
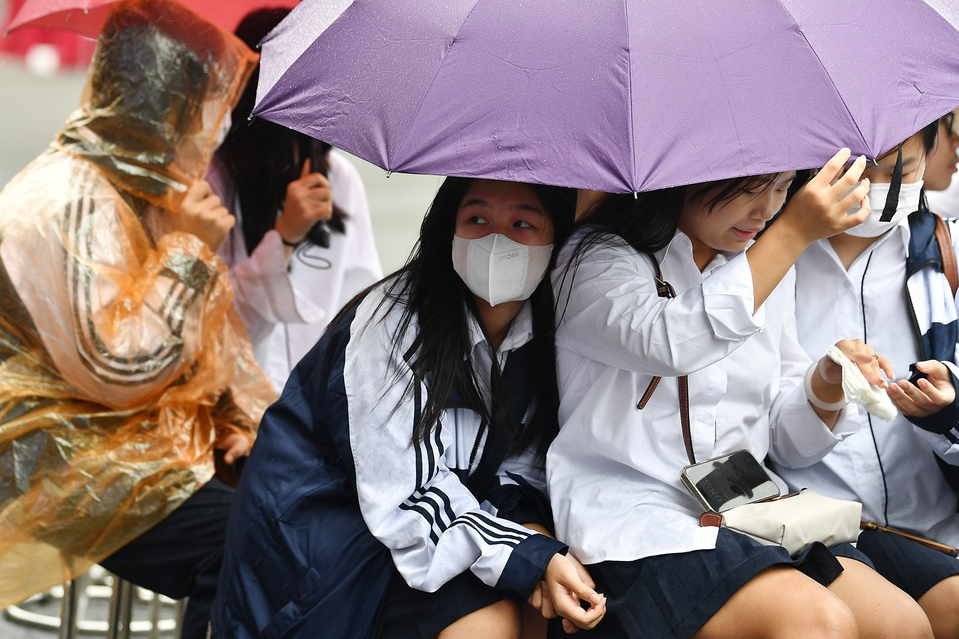
[[[237,37],[254,49],[283,18],[289,9],[259,9],[246,14],[236,29]],[[236,184],[243,212],[242,226],[246,251],[253,252],[263,236],[276,223],[276,214],[283,207],[287,186],[300,176],[303,163],[316,156],[312,171],[327,175],[327,154],[330,145],[314,140],[292,128],[253,118],[250,113],[256,103],[256,86],[260,79],[259,66],[253,72],[246,90],[233,109],[233,125],[219,150],[219,155]],[[316,146],[316,152],[312,152]],[[345,233],[346,214],[333,207],[328,224],[334,233]]]

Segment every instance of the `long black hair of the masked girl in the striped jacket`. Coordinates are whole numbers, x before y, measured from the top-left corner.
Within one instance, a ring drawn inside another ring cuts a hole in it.
[[[386,278],[386,298],[381,307],[386,312],[402,308],[403,312],[394,336],[394,349],[404,343],[404,337],[415,326],[416,335],[406,356],[413,375],[429,378],[429,394],[419,422],[414,424],[411,443],[421,443],[429,437],[446,408],[447,400],[456,389],[466,408],[479,414],[489,428],[489,437],[505,438],[512,433],[506,422],[503,405],[503,385],[498,367],[493,366],[490,380],[492,399],[487,405],[476,377],[470,340],[470,315],[483,326],[473,293],[453,268],[453,235],[459,204],[472,178],[447,177],[433,198],[423,224],[419,240],[406,266]],[[552,260],[573,229],[575,191],[563,187],[530,184],[553,223]],[[513,442],[512,451],[534,447],[540,459],[559,431],[556,411],[559,392],[556,388],[556,350],[554,345],[553,297],[550,278],[546,277],[529,298],[533,325],[533,362],[535,370],[535,413],[522,434]],[[379,312],[376,316],[383,316]],[[489,340],[486,347],[492,351]],[[495,355],[493,361],[496,361]],[[407,389],[411,393],[412,388]],[[515,424],[513,424],[515,425]]]

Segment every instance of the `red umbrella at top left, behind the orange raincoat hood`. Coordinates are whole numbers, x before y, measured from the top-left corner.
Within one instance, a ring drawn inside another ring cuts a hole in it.
[[[65,29],[96,37],[118,0],[26,0],[7,27],[7,33],[22,27]],[[265,6],[292,9],[299,0],[180,0],[204,18],[232,32],[249,11]]]

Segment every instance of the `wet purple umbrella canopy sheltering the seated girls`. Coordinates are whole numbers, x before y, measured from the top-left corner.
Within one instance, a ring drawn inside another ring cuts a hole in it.
[[[386,171],[614,193],[875,158],[959,106],[954,0],[304,0],[256,115]]]

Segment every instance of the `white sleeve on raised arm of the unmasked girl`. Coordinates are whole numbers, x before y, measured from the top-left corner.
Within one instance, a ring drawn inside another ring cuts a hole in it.
[[[702,285],[659,297],[650,259],[628,246],[592,249],[566,268],[573,240],[553,270],[557,347],[649,376],[679,377],[735,351],[762,328],[753,314],[745,254],[719,266]]]

